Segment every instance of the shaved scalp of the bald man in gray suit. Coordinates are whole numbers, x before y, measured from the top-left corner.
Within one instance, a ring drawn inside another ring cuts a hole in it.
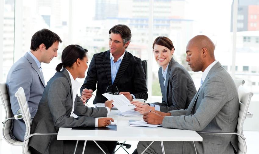
[[[188,44],[189,45],[192,44],[192,45],[198,47],[199,49],[202,49],[204,47],[207,48],[208,54],[210,55],[210,57],[215,59],[215,56],[214,56],[215,45],[212,42],[212,40],[210,38],[208,38],[207,36],[197,35],[197,36],[193,37],[188,42]]]

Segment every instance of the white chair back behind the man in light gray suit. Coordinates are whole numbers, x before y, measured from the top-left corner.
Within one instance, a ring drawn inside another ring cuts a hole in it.
[[[10,98],[6,89],[6,83],[0,83],[0,104],[3,104],[5,109],[5,121],[3,123],[2,134],[5,141],[11,145],[23,145],[23,142],[14,140],[10,137],[10,129],[12,124],[12,110],[10,104]]]

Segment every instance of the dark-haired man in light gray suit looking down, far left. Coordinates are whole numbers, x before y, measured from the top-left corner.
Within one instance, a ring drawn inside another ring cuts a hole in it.
[[[6,86],[10,97],[11,109],[14,115],[20,112],[20,107],[15,97],[19,87],[23,87],[32,117],[37,112],[45,88],[44,76],[41,71],[41,62],[50,63],[57,57],[60,37],[48,29],[37,31],[31,38],[30,51],[16,61],[10,68]],[[24,121],[13,120],[10,136],[23,141],[26,127]]]

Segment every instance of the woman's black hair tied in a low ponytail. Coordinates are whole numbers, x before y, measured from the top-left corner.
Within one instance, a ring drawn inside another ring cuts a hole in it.
[[[65,49],[62,51],[61,63],[57,65],[56,71],[60,72],[62,67],[72,67],[78,58],[82,60],[84,57],[86,57],[87,51],[87,49],[84,49],[77,44],[71,44],[65,47]]]

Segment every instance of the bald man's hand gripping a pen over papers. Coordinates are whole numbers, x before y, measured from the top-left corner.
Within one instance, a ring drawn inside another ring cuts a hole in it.
[[[146,112],[143,114],[143,120],[148,124],[162,124],[164,116],[156,114],[154,112]]]

